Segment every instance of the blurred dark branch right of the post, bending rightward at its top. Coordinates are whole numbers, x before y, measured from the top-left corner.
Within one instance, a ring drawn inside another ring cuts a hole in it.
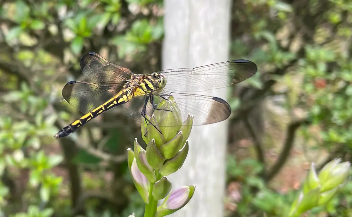
[[[276,176],[276,174],[281,170],[282,166],[285,164],[288,156],[290,155],[290,150],[292,149],[293,144],[295,142],[297,129],[302,125],[308,125],[310,123],[311,122],[309,120],[302,119],[302,120],[294,121],[288,125],[287,132],[286,132],[286,139],[283,144],[281,153],[279,154],[279,157],[276,163],[271,167],[271,169],[268,172],[268,175],[266,176],[265,181],[267,183],[270,182],[270,180]]]

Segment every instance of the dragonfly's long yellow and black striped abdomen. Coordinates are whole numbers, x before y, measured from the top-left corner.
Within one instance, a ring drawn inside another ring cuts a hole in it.
[[[131,100],[131,98],[132,98],[131,88],[124,88],[120,90],[114,97],[107,100],[102,105],[96,107],[91,112],[83,115],[81,118],[75,120],[68,126],[65,126],[58,133],[56,133],[54,137],[59,139],[59,138],[68,136],[70,133],[75,132],[78,129],[78,127],[86,124],[88,121],[92,120],[102,112],[105,112],[115,106],[125,104],[129,100]]]

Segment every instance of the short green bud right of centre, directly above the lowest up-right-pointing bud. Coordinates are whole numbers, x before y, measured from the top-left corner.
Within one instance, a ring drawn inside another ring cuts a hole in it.
[[[182,142],[183,142],[183,133],[182,131],[180,131],[169,142],[159,147],[159,150],[162,156],[166,159],[170,159],[174,157],[177,154],[177,152],[180,151],[180,149],[184,146],[184,143]]]

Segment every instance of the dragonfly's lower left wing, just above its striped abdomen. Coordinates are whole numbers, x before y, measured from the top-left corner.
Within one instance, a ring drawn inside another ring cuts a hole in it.
[[[85,81],[70,81],[62,89],[62,96],[70,105],[86,114],[112,98],[115,88],[116,86]]]

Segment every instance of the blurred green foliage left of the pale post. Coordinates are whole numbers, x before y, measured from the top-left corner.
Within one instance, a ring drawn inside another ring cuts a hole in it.
[[[140,71],[139,64],[157,69],[149,51],[161,44],[162,1],[1,4],[0,215],[142,215],[124,156],[139,127],[110,122],[108,129],[84,132],[87,139],[74,135],[77,144],[52,136],[62,120],[79,115],[59,101],[62,86],[80,76],[82,53],[105,51],[131,70]]]

